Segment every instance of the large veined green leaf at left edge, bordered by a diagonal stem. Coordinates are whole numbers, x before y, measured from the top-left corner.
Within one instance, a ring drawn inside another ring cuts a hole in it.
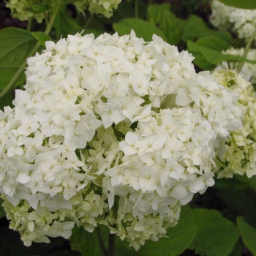
[[[0,90],[12,80],[36,43],[29,31],[15,28],[0,30]],[[14,86],[20,86],[24,81],[25,75],[21,75]]]

